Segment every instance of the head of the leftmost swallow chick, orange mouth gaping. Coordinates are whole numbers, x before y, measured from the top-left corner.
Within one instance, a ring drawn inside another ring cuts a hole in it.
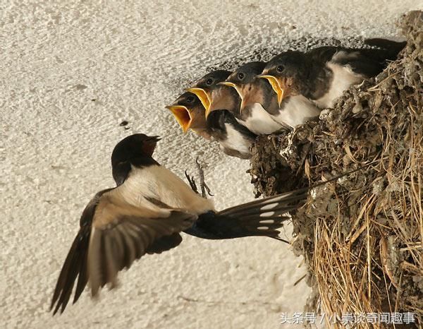
[[[204,106],[193,92],[184,92],[166,109],[172,112],[184,133],[190,128],[197,133],[207,128]]]

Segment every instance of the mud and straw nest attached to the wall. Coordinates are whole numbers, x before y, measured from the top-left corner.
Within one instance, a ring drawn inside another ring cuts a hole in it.
[[[423,325],[423,12],[400,25],[407,46],[384,72],[318,121],[252,149],[257,196],[362,168],[314,189],[292,214],[313,289],[306,311],[412,312]]]

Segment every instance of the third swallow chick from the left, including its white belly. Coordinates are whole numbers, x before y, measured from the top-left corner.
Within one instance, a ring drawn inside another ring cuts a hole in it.
[[[240,115],[245,126],[250,129],[255,127],[270,126],[269,120],[283,126],[295,128],[299,124],[320,114],[320,110],[306,97],[292,93],[281,102],[274,94],[271,85],[260,78],[266,63],[254,61],[247,63],[234,71],[226,81],[238,91],[242,99]]]

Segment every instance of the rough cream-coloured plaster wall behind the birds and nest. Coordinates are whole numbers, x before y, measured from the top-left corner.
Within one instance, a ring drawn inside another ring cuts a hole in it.
[[[218,209],[252,198],[248,162],[183,136],[163,108],[187,83],[260,49],[394,37],[422,1],[0,5],[1,328],[278,328],[281,312],[302,311],[309,289],[293,287],[304,271],[288,246],[191,237],[135,263],[99,301],[85,293],[54,318],[48,308],[82,208],[113,186],[109,156],[124,136],[162,136],[157,160],[180,176],[200,155]]]

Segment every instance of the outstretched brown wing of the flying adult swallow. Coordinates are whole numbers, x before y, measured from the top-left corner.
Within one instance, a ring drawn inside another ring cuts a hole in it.
[[[118,271],[130,268],[145,253],[161,253],[180,244],[179,232],[192,226],[196,215],[180,210],[135,207],[116,189],[97,193],[82,213],[80,230],[57,280],[51,309],[63,312],[76,284],[73,303],[87,282],[92,296],[116,285]]]

